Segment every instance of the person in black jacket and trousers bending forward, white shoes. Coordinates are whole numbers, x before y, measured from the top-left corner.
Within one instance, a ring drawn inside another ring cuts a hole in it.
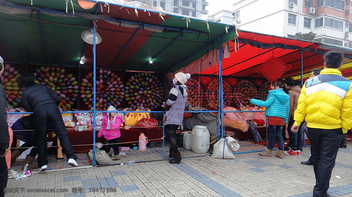
[[[61,102],[61,98],[50,88],[36,84],[34,82],[35,79],[34,74],[26,73],[19,77],[19,84],[21,88],[24,88],[21,97],[23,107],[27,112],[33,112],[34,115],[39,171],[48,169],[48,149],[46,143],[46,128],[48,124],[51,124],[55,130],[68,158],[68,164],[76,167],[78,166],[76,162],[77,156],[73,152],[65,124],[57,107]]]

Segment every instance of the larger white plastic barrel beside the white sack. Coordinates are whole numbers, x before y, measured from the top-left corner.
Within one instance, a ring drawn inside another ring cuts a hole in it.
[[[210,145],[210,133],[206,126],[195,125],[191,133],[191,148],[195,153],[207,153]]]

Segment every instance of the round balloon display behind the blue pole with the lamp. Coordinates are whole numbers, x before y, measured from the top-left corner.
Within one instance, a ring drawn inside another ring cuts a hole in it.
[[[81,98],[85,106],[93,107],[93,83],[96,83],[96,104],[98,110],[107,110],[109,106],[115,108],[124,102],[123,82],[121,77],[107,69],[99,69],[96,73],[97,78],[93,81],[93,74],[84,75],[80,87]],[[121,106],[123,107],[123,105]]]

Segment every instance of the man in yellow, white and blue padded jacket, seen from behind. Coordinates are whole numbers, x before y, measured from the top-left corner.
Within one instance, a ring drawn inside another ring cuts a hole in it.
[[[302,87],[291,128],[296,132],[304,118],[307,121],[316,180],[313,197],[328,196],[342,137],[352,127],[352,83],[338,70],[343,58],[342,53],[333,51],[324,55],[320,75],[308,79]]]

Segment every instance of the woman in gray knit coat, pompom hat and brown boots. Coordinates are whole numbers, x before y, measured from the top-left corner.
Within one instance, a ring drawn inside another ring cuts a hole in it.
[[[176,130],[183,123],[183,111],[187,102],[186,82],[190,74],[176,73],[172,80],[174,87],[170,90],[168,100],[164,103],[166,112],[164,114],[164,127],[170,142],[170,163],[179,164],[181,162],[181,153],[178,152],[176,143]]]

